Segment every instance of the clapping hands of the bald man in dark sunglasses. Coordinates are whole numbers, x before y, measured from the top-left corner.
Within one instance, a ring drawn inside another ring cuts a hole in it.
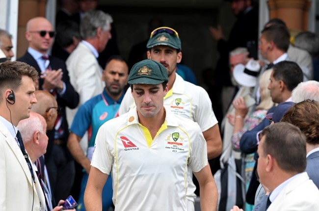
[[[57,88],[59,91],[63,90],[63,81],[62,81],[63,72],[62,69],[58,70],[47,70],[41,73],[40,78],[44,79],[43,89],[50,92],[51,89]]]

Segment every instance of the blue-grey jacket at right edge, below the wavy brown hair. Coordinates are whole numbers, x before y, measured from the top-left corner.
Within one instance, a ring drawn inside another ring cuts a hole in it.
[[[309,178],[314,182],[314,184],[319,188],[319,151],[310,154],[307,157],[307,168],[306,172]]]

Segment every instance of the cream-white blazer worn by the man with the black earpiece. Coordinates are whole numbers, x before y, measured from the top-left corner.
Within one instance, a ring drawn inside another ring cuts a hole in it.
[[[45,210],[44,194],[34,169],[33,173],[35,185],[18,143],[0,122],[0,211]]]

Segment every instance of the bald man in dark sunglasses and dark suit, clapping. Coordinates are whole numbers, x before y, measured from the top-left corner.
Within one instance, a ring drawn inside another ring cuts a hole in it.
[[[54,132],[48,133],[51,134],[49,142],[53,142],[54,156],[46,156],[46,164],[54,198],[66,199],[73,184],[75,170],[74,160],[66,147],[69,127],[65,107],[78,106],[79,94],[70,83],[65,63],[47,53],[52,46],[54,34],[53,27],[47,19],[36,17],[29,20],[26,31],[28,49],[18,60],[26,62],[37,70],[40,77],[39,88],[51,93],[62,109],[54,124]]]

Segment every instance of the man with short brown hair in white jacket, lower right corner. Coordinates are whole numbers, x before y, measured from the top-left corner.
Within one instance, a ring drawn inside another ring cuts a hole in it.
[[[299,128],[284,122],[268,126],[263,130],[258,154],[260,182],[271,192],[267,211],[319,209],[319,190],[304,172],[306,137]]]

